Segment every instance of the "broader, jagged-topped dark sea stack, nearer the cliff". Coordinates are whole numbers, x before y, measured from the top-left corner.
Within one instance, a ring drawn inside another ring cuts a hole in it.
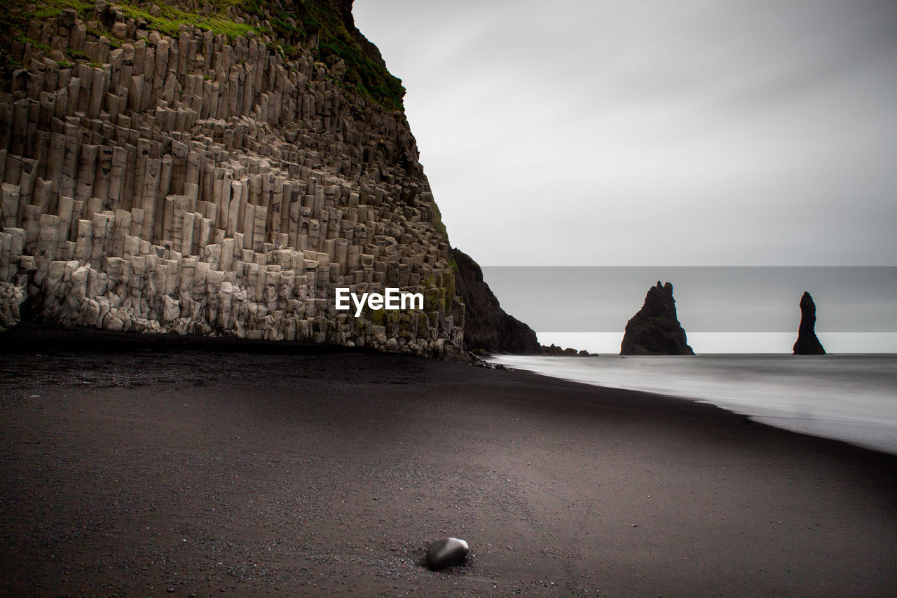
[[[675,315],[673,285],[652,286],[645,304],[626,323],[620,355],[694,355]]]

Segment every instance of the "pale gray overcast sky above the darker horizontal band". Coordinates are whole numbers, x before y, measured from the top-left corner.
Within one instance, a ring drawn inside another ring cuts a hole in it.
[[[893,0],[353,13],[483,265],[897,265]]]

